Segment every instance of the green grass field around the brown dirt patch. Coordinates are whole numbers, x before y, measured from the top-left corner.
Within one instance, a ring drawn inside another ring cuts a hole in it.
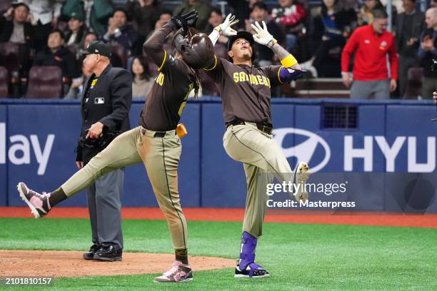
[[[87,250],[90,245],[85,219],[1,218],[0,225],[5,250]],[[124,220],[123,228],[127,252],[172,252],[165,221]],[[191,221],[189,252],[236,259],[240,235],[241,223]],[[195,272],[193,282],[179,285],[156,284],[155,275],[124,275],[56,278],[52,289],[437,290],[436,250],[437,230],[431,228],[266,223],[256,261],[271,272],[268,278],[238,280],[233,269],[223,269]]]

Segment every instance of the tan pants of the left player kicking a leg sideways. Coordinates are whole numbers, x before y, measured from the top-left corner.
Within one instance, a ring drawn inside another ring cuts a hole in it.
[[[164,138],[154,137],[155,133],[146,131],[142,126],[122,133],[61,188],[70,197],[87,188],[101,175],[142,161],[159,208],[169,224],[174,248],[182,250],[187,248],[187,231],[178,193],[177,169],[182,152],[181,140],[175,131],[167,131]]]

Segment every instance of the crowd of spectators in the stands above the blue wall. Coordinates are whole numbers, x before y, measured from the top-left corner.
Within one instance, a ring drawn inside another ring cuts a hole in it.
[[[0,0],[0,83],[6,82],[7,86],[4,93],[0,85],[0,97],[44,97],[33,94],[30,78],[36,76],[43,79],[40,84],[61,82],[61,92],[54,93],[57,98],[80,98],[90,72],[82,67],[79,51],[90,41],[99,39],[111,45],[113,66],[131,71],[134,98],[146,98],[157,71],[142,45],[154,30],[182,9],[199,12],[196,29],[206,34],[221,24],[228,13],[240,19],[238,29],[241,30],[253,32],[251,24],[266,21],[268,31],[278,43],[293,53],[308,71],[305,78],[343,78],[345,86],[350,86],[355,79],[352,68],[354,72],[357,70],[353,53],[358,54],[359,44],[369,41],[366,34],[358,36],[358,28],[370,29],[375,11],[386,11],[386,2],[380,0],[322,0],[317,5],[308,0],[241,0],[216,6],[222,2],[183,0],[175,6],[174,1],[159,0],[128,0],[123,5],[111,0]],[[384,34],[395,40],[393,49],[387,51],[388,64],[381,66],[381,63],[369,63],[370,60],[366,63],[366,68],[386,70],[372,73],[373,78],[388,78],[391,93],[386,98],[390,95],[391,98],[431,98],[436,88],[437,70],[432,71],[431,65],[437,57],[437,8],[434,8],[437,0],[431,0],[429,5],[429,9],[421,11],[418,1],[393,1],[393,21],[386,25],[391,26],[391,33]],[[164,48],[171,50],[170,41],[171,38]],[[217,56],[227,58],[227,41],[226,36],[218,39]],[[380,48],[387,45],[383,41]],[[345,46],[348,49],[343,51]],[[255,44],[253,51],[259,66],[279,63],[266,46]],[[38,68],[39,73],[35,73],[35,67],[44,66],[50,69]],[[53,70],[54,67],[60,70]],[[358,68],[358,74],[360,71],[365,70]],[[203,94],[218,95],[214,83],[206,75],[200,73],[200,76]],[[372,76],[364,79],[373,80]],[[409,84],[414,82],[421,88],[411,91]],[[286,86],[289,84],[272,88],[276,90],[273,96],[293,97],[293,91]]]

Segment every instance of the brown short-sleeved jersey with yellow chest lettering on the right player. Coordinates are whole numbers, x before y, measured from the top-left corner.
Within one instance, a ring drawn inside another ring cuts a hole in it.
[[[225,123],[248,121],[272,126],[270,88],[282,83],[281,66],[257,68],[215,58],[214,66],[204,71],[218,85]]]

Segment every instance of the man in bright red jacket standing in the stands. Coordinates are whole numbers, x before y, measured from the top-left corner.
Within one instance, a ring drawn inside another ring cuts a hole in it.
[[[358,27],[341,55],[341,76],[346,87],[351,86],[351,98],[389,98],[390,91],[396,90],[398,78],[398,56],[396,41],[388,32],[388,16],[384,10],[373,11],[373,22]],[[353,78],[349,73],[352,53]],[[387,53],[390,61],[391,79],[388,76]],[[353,81],[352,81],[353,80]]]

